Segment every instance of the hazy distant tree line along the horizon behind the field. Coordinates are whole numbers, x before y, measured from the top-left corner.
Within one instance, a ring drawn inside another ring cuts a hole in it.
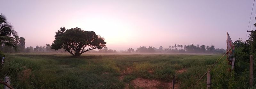
[[[15,36],[14,37],[14,44],[17,46],[17,48],[10,48],[8,46],[5,45],[0,45],[0,50],[2,50],[2,52],[6,52],[6,53],[13,53],[13,52],[26,52],[26,53],[43,53],[43,52],[54,52],[54,53],[64,53],[65,49],[61,48],[59,50],[54,50],[52,49],[52,45],[50,44],[46,44],[44,46],[36,46],[35,48],[33,47],[25,47],[26,44],[26,40],[24,37],[19,37],[19,36]],[[17,51],[15,51],[17,50]],[[162,46],[160,46],[159,48],[155,48],[152,46],[149,46],[148,48],[145,46],[140,46],[137,49],[133,49],[133,48],[128,48],[127,50],[120,50],[120,51],[116,51],[116,50],[112,50],[112,49],[108,49],[108,47],[104,47],[102,49],[99,50],[90,50],[88,51],[88,53],[214,53],[214,54],[218,54],[218,53],[225,53],[226,50],[221,48],[215,48],[213,45],[212,46],[205,46],[205,45],[201,45],[199,46],[191,44],[191,45],[180,45],[180,44],[175,44],[173,46],[169,46],[169,48],[163,48]]]

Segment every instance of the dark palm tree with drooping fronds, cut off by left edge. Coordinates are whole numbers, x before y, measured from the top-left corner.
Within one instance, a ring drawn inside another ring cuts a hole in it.
[[[13,26],[7,22],[6,17],[0,14],[0,45],[13,47],[17,50],[16,44],[13,43],[14,37],[18,36],[13,30]]]

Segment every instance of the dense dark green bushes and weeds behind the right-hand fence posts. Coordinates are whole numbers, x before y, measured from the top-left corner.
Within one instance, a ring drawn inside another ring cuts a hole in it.
[[[235,46],[235,68],[230,71],[231,66],[228,61],[223,58],[212,70],[212,88],[213,89],[249,89],[249,56],[252,54],[248,40],[243,42],[239,39],[234,42]],[[254,49],[253,49],[254,50]],[[252,54],[255,56],[255,54]],[[255,58],[254,58],[255,59]],[[254,66],[255,66],[254,60]],[[253,75],[256,77],[256,75]],[[256,82],[256,80],[254,80]],[[204,86],[201,86],[204,87]]]

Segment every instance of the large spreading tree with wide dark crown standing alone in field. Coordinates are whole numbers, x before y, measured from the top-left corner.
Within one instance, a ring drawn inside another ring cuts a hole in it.
[[[80,56],[89,50],[101,49],[106,46],[104,38],[93,31],[84,31],[78,27],[65,30],[65,27],[60,27],[60,30],[56,32],[52,49],[64,48],[72,56]]]

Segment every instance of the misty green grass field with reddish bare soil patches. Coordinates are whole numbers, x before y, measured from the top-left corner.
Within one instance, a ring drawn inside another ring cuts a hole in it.
[[[196,81],[220,55],[190,54],[6,54],[1,78],[18,89],[205,88]],[[1,87],[2,88],[2,87]]]

